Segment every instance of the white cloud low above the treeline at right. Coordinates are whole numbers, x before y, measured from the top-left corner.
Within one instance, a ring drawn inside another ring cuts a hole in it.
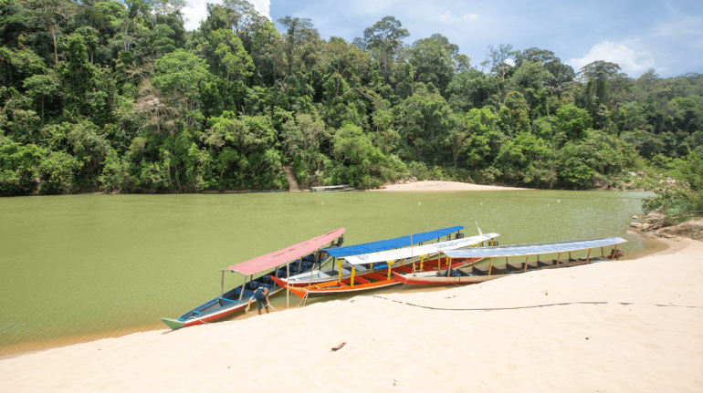
[[[615,63],[623,68],[625,73],[638,73],[648,68],[654,67],[655,60],[652,54],[646,51],[635,51],[637,40],[628,40],[623,43],[603,41],[591,48],[591,51],[581,58],[572,58],[566,64],[578,70],[596,60],[604,60]]]

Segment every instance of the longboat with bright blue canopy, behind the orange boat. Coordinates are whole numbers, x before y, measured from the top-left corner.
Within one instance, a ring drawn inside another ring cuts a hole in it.
[[[308,271],[307,273],[303,274],[293,274],[290,276],[289,279],[286,279],[286,275],[281,274],[278,274],[277,278],[283,280],[287,284],[289,283],[289,286],[291,287],[308,286],[310,284],[321,284],[334,279],[341,281],[352,277],[352,264],[349,264],[346,261],[344,263],[340,263],[340,260],[343,260],[346,257],[359,255],[363,253],[376,253],[381,251],[387,251],[394,248],[405,247],[411,244],[423,245],[423,243],[431,242],[435,239],[436,242],[439,242],[445,236],[446,242],[451,243],[453,241],[461,241],[461,239],[464,239],[464,233],[461,233],[461,230],[463,229],[464,227],[460,225],[452,226],[448,228],[436,229],[434,231],[412,233],[400,237],[395,237],[392,239],[385,239],[371,243],[354,244],[344,247],[340,246],[341,243],[343,243],[343,238],[341,238],[341,241],[338,242],[335,247],[325,248],[321,250],[327,256],[327,259],[322,262],[321,265],[324,266],[325,264],[327,264],[328,261],[331,261],[331,265],[322,267],[313,272]],[[452,233],[454,233],[453,240]],[[399,266],[400,264],[396,264],[395,267],[392,268],[392,271]],[[370,268],[370,266],[366,267]],[[385,264],[375,264],[373,271],[378,273],[382,272],[384,269]]]

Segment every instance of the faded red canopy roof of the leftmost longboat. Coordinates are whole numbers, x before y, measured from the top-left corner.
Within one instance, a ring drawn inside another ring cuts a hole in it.
[[[313,253],[324,247],[326,244],[331,243],[334,239],[337,239],[344,233],[346,229],[339,228],[332,232],[325,233],[318,237],[313,237],[305,242],[293,244],[282,250],[275,251],[273,253],[267,253],[266,255],[258,256],[257,258],[250,259],[241,264],[235,264],[234,266],[229,266],[223,271],[231,270],[233,272],[238,272],[244,275],[257,274],[268,269],[273,269],[280,264],[286,264],[287,262],[293,262],[305,255]]]

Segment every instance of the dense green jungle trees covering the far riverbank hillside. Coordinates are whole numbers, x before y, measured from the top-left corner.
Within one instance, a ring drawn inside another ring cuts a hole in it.
[[[588,188],[703,156],[703,78],[470,59],[393,16],[347,42],[245,0],[0,0],[0,194],[376,187],[416,176]],[[689,159],[690,158],[690,159]]]

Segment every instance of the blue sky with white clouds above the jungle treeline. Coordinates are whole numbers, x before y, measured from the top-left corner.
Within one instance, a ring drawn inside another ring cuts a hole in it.
[[[394,16],[410,32],[406,44],[439,33],[478,69],[489,45],[511,44],[515,49],[549,49],[576,71],[605,60],[617,63],[632,78],[650,68],[663,78],[703,73],[701,0],[249,1],[273,21],[310,18],[325,39],[341,36],[352,41],[383,16]],[[208,0],[187,2],[185,26],[193,30],[207,16]]]

